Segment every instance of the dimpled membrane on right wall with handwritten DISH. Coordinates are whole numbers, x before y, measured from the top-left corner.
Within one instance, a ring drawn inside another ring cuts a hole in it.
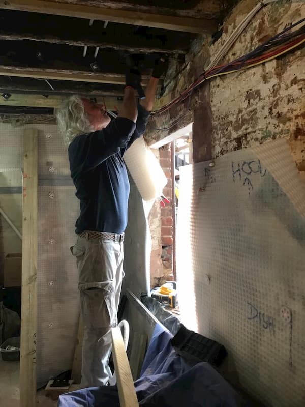
[[[305,405],[305,182],[285,139],[180,168],[182,322],[222,343],[227,379]]]

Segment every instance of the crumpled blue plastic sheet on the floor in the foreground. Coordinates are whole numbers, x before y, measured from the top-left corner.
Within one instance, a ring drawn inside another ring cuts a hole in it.
[[[135,382],[142,407],[239,407],[235,390],[208,363],[188,365],[170,344],[172,335],[156,325]],[[243,404],[244,405],[244,404]],[[59,397],[58,407],[119,407],[116,386],[81,389]]]

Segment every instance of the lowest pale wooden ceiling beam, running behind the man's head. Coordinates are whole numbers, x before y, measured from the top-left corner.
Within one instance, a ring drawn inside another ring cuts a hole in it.
[[[0,87],[1,89],[1,87]],[[9,99],[5,99],[0,96],[0,106],[31,106],[31,107],[53,107],[57,108],[63,103],[65,96],[50,95],[45,98],[42,95],[28,95],[28,94],[12,94]],[[106,106],[113,109],[113,106],[118,108],[121,105],[121,101],[118,101],[116,97],[97,97],[98,103],[103,103],[105,100]]]

